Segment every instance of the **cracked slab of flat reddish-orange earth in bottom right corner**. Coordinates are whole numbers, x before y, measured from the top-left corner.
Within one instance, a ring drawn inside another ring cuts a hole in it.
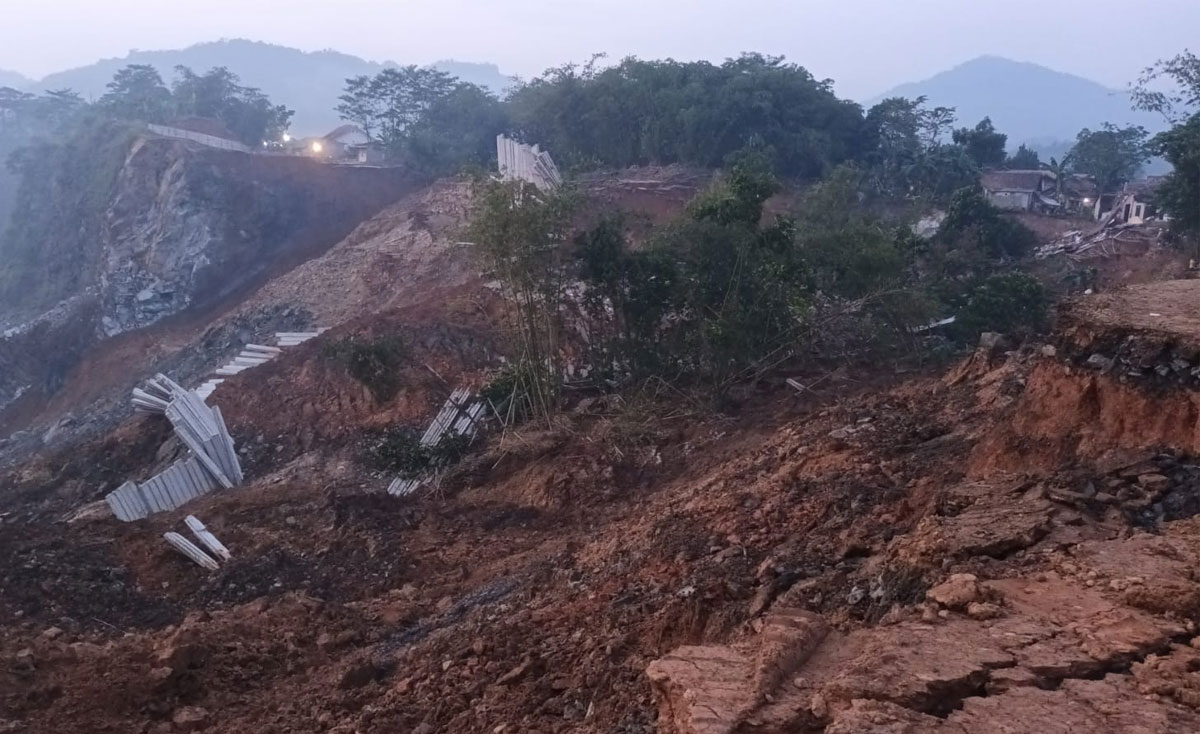
[[[1021,506],[974,485],[952,499]],[[972,537],[970,507],[938,519],[917,527],[923,541],[896,539],[887,552],[912,564],[988,555],[989,545],[944,542]],[[1009,531],[1037,542],[1019,527]],[[1044,550],[1055,547],[1046,539]],[[820,618],[776,604],[749,638],[680,648],[650,664],[659,730],[1200,730],[1200,654],[1182,644],[1192,633],[1177,621],[1193,614],[1195,583],[1181,579],[1198,549],[1135,535],[1079,543],[1069,558],[1058,565],[1069,577],[952,573],[928,591],[943,607],[931,618],[848,632],[827,632]],[[781,634],[788,628],[808,632]]]

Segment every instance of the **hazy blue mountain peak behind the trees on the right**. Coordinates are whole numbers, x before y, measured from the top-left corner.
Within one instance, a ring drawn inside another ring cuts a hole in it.
[[[1163,128],[1159,116],[1134,110],[1129,95],[1082,77],[1037,64],[980,56],[924,82],[902,84],[865,104],[887,97],[925,96],[930,104],[953,107],[958,125],[991,118],[1008,136],[1009,150],[1025,143],[1043,154],[1062,155],[1080,130],[1105,122]]]

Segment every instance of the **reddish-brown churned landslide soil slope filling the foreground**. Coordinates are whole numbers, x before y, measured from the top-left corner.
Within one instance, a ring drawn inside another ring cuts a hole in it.
[[[1154,337],[1079,323],[1100,341]],[[380,494],[350,444],[280,440],[252,486],[187,507],[235,554],[211,574],[160,540],[182,512],[64,522],[47,504],[0,534],[0,718],[22,732],[1194,732],[1200,464],[1182,434],[1132,441],[1104,421],[1090,441],[1039,449],[1039,396],[1097,379],[1068,342],[980,350],[948,374],[844,371],[804,393],[768,381],[732,417],[678,396],[584,401],[491,437],[409,499]],[[473,357],[436,338],[420,357],[470,379]],[[343,399],[322,397],[337,383],[320,359],[314,342],[229,387],[239,441],[282,435],[271,401]],[[1129,391],[1168,411],[1189,390],[1099,377],[1075,409]],[[436,381],[412,380],[397,398],[412,410],[362,398],[344,422],[416,420],[418,405],[427,420]],[[1050,408],[1063,426],[1090,420],[1068,408]]]

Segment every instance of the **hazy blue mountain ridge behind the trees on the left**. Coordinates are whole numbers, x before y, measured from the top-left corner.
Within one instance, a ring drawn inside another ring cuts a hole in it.
[[[324,134],[342,121],[334,107],[346,85],[346,79],[360,74],[376,74],[394,62],[378,64],[334,50],[302,52],[283,46],[256,41],[216,41],[178,50],[134,50],[120,59],[103,59],[88,66],[58,72],[40,82],[14,74],[6,82],[0,72],[0,85],[32,91],[73,89],[85,98],[104,94],[104,85],[120,68],[130,64],[154,66],[169,84],[175,66],[187,66],[196,72],[214,66],[226,66],[247,86],[257,86],[272,101],[295,110],[293,131],[296,134]],[[493,64],[438,61],[434,67],[497,94],[515,83]]]

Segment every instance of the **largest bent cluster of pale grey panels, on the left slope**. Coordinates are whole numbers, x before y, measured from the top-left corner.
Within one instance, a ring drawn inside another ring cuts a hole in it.
[[[104,498],[113,515],[125,522],[174,510],[218,487],[233,488],[245,479],[221,410],[209,408],[203,398],[166,375],[155,375],[151,383],[170,397],[163,401],[163,413],[191,455],[144,483],[125,482]]]

